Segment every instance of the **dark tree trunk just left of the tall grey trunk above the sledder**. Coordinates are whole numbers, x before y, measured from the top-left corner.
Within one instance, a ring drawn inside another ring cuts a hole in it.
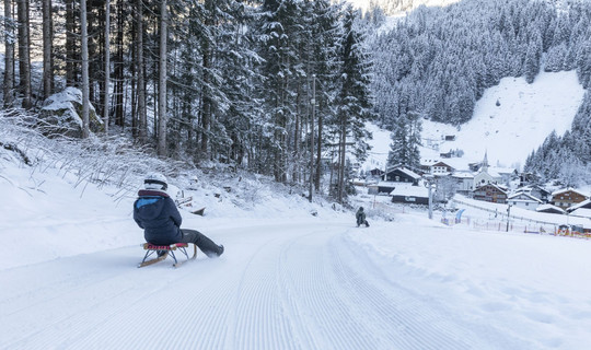
[[[137,74],[138,74],[138,116],[139,116],[139,139],[141,143],[148,141],[148,114],[146,110],[146,82],[143,78],[143,3],[142,0],[137,0]]]

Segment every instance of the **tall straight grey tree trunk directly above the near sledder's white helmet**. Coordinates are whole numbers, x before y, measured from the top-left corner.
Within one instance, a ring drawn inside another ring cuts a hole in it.
[[[166,156],[166,0],[161,0],[160,5],[160,75],[158,95],[159,128],[158,128],[158,155]]]

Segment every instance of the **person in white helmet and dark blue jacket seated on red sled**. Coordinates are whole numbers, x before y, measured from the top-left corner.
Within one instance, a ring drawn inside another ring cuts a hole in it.
[[[154,245],[194,243],[208,257],[218,257],[223,245],[217,245],[198,231],[181,229],[181,213],[166,194],[166,177],[150,174],[143,180],[144,189],[138,192],[134,202],[134,220],[143,229],[143,237]],[[165,253],[163,253],[165,254]]]

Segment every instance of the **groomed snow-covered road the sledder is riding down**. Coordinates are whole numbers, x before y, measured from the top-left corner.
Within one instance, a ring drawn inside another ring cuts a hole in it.
[[[137,269],[138,245],[2,270],[0,349],[520,348],[405,285],[348,238],[354,230],[366,229],[224,228],[211,232],[221,258],[178,269]]]

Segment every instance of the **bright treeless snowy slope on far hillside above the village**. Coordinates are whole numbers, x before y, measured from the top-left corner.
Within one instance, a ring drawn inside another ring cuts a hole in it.
[[[436,160],[440,153],[462,150],[464,155],[454,162],[468,164],[480,162],[486,152],[494,166],[522,170],[553,130],[561,136],[570,129],[583,94],[575,71],[542,72],[532,84],[505,78],[485,91],[468,122],[453,127],[424,120],[421,158]],[[364,168],[385,164],[391,143],[387,131],[370,128],[375,142]],[[455,136],[455,141],[444,141],[444,136]]]

